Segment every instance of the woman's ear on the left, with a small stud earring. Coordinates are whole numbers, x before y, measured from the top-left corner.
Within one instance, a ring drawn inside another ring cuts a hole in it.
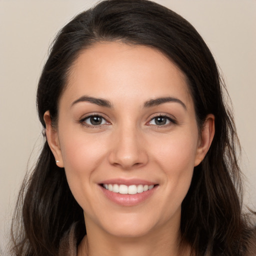
[[[49,110],[44,113],[43,120],[46,125],[45,133],[46,133],[47,142],[48,142],[51,152],[53,153],[53,155],[55,157],[56,165],[58,167],[64,167],[62,154],[61,154],[59,141],[58,141],[58,133],[57,133],[56,128],[51,123]]]

